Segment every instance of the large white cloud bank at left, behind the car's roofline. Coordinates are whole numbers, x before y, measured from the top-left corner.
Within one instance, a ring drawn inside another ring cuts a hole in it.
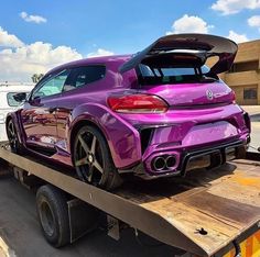
[[[0,80],[31,81],[31,76],[35,72],[45,74],[57,65],[80,58],[83,56],[76,49],[64,45],[53,47],[52,44],[43,42],[29,45],[6,44],[0,51]]]

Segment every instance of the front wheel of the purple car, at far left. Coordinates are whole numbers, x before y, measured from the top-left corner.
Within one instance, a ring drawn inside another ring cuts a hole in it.
[[[7,135],[11,152],[14,154],[23,154],[24,147],[19,141],[17,127],[12,119],[7,123]]]

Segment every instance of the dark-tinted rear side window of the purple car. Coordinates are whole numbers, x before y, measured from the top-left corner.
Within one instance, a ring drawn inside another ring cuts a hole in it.
[[[102,79],[105,75],[106,67],[104,65],[93,65],[74,68],[72,69],[68,81],[64,86],[64,91],[68,91],[98,81]]]

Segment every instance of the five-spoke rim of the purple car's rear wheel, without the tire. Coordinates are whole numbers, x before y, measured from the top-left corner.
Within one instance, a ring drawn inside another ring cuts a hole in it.
[[[104,159],[97,137],[88,130],[82,131],[76,142],[75,167],[84,180],[95,186],[104,181]]]

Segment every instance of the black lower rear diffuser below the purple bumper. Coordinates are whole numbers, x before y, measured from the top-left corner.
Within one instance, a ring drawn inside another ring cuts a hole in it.
[[[206,168],[213,169],[225,164],[228,160],[236,158],[245,158],[247,152],[247,145],[250,142],[248,136],[246,141],[234,141],[213,147],[205,147],[203,149],[195,149],[183,152],[180,156],[180,161],[175,170],[169,172],[155,172],[147,170],[145,163],[138,165],[133,172],[136,176],[147,180],[163,178],[163,177],[184,177],[186,172],[193,169]]]

